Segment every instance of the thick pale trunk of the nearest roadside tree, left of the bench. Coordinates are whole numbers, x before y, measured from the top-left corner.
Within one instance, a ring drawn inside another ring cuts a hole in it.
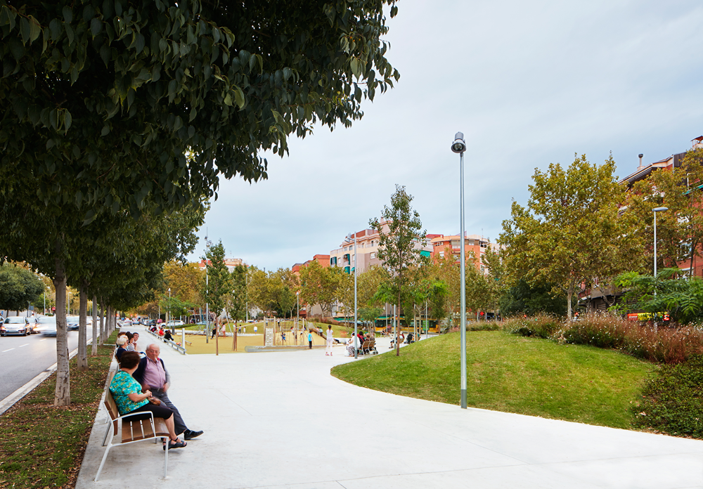
[[[57,248],[60,245],[57,244]],[[57,249],[57,255],[60,249]],[[66,327],[66,270],[63,259],[56,258],[56,391],[53,405],[71,403],[70,371],[68,370],[68,331]]]

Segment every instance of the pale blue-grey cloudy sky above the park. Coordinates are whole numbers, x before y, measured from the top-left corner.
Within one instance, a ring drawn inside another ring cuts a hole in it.
[[[524,205],[535,169],[574,154],[620,177],[703,134],[703,4],[400,0],[388,19],[395,88],[362,102],[346,129],[290,138],[266,155],[269,178],[221,180],[201,240],[259,268],[329,254],[368,228],[395,185],[413,195],[427,233],[460,228],[459,157],[465,135],[465,230],[495,241],[512,201]]]

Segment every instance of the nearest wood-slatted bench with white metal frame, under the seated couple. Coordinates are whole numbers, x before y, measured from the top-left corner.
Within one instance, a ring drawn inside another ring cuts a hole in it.
[[[103,455],[103,460],[100,462],[100,467],[98,467],[98,473],[95,474],[96,482],[98,481],[98,477],[103,470],[105,459],[108,458],[110,448],[151,439],[154,440],[154,443],[158,443],[159,438],[169,438],[169,429],[166,426],[165,420],[158,417],[155,418],[152,412],[131,412],[124,416],[120,416],[120,412],[117,410],[117,404],[115,403],[115,398],[112,397],[112,392],[110,392],[111,380],[111,377],[108,378],[107,388],[105,389],[105,402],[103,403],[103,407],[110,416],[108,429],[105,431],[105,438],[103,438],[103,446],[105,446],[105,441],[108,442],[108,445],[105,448],[105,455]],[[145,414],[150,415],[150,418],[130,419],[136,415]],[[115,438],[119,431],[120,425],[122,425],[122,438]],[[166,444],[166,450],[164,450],[164,453],[165,478],[169,462],[169,443]]]

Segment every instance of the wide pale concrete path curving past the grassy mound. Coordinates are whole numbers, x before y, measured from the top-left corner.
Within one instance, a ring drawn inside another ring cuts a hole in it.
[[[94,483],[101,411],[77,489],[703,488],[703,441],[362,389],[330,375],[350,361],[340,346],[331,358],[170,348],[162,358],[169,396],[205,433],[169,452],[167,479],[161,446],[144,442],[110,450]]]

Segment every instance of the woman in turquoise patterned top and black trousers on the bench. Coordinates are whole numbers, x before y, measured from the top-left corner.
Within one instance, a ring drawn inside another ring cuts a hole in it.
[[[128,413],[143,412],[143,415],[134,416],[133,419],[148,419],[149,412],[154,413],[154,417],[163,418],[169,429],[169,449],[186,446],[186,442],[179,440],[175,433],[174,413],[164,405],[155,405],[149,402],[151,391],[141,392],[141,385],[131,376],[139,365],[139,354],[136,351],[125,351],[122,353],[120,361],[120,371],[112,377],[110,392],[115,398],[117,410],[120,415]],[[166,450],[166,443],[164,443]]]

